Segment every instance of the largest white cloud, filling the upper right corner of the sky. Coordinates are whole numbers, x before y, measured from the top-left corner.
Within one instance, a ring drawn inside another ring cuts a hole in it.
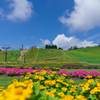
[[[59,17],[61,23],[67,25],[71,32],[100,27],[100,0],[74,0],[74,3],[74,11],[67,13],[69,18],[65,15]]]

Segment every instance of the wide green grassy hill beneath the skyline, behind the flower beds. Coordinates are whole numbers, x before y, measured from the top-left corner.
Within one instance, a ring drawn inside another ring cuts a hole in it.
[[[7,61],[17,61],[21,50],[8,51]],[[84,60],[84,61],[82,61]],[[4,51],[0,51],[0,61],[5,61]],[[22,57],[21,61],[24,61]],[[100,46],[87,47],[76,50],[59,49],[29,49],[25,56],[25,61],[31,63],[83,63],[100,64]]]

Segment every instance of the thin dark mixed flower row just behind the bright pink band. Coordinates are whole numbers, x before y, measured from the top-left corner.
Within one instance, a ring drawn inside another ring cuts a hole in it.
[[[36,69],[43,67],[44,69],[52,69],[59,71],[60,69],[100,69],[100,65],[62,65],[62,66],[39,66],[39,65],[0,65],[0,68],[21,68],[21,69]]]

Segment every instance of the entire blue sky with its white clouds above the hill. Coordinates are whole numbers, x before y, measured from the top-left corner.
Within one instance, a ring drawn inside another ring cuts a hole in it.
[[[1,0],[0,48],[100,44],[100,0]]]

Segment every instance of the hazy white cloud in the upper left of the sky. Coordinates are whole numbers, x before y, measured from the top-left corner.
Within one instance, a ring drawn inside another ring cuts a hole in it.
[[[9,8],[11,12],[7,15],[7,19],[12,21],[26,21],[33,13],[33,5],[28,0],[9,0],[11,1]]]

